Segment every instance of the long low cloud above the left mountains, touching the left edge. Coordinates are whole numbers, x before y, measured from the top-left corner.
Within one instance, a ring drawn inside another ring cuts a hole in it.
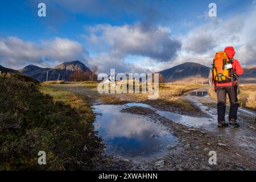
[[[73,40],[54,38],[37,45],[16,37],[0,38],[0,62],[7,67],[21,68],[27,64],[53,67],[69,60],[85,60],[88,52]]]

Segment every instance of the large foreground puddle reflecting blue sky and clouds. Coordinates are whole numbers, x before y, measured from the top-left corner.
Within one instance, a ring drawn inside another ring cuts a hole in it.
[[[146,106],[140,104],[141,106]],[[164,155],[177,138],[159,122],[143,115],[121,113],[125,105],[94,105],[98,135],[106,142],[106,153],[122,158],[145,159]]]

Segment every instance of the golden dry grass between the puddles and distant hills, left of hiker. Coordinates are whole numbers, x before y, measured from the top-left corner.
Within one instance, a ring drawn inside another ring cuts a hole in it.
[[[164,110],[182,111],[184,113],[197,112],[198,110],[182,96],[185,92],[201,88],[201,84],[160,84],[159,97],[148,100],[148,94],[100,94],[98,101],[106,104],[123,104],[126,102],[145,102]]]

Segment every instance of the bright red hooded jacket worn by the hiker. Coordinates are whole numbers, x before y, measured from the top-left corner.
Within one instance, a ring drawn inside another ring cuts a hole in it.
[[[228,53],[228,56],[229,56],[230,59],[233,59],[234,55],[236,54],[233,47],[226,47],[225,52]],[[238,60],[233,59],[232,67],[233,67],[232,68],[233,72],[236,72],[237,75],[242,75],[243,74],[243,68],[241,67]],[[216,82],[216,86],[232,86],[232,82],[221,83],[221,84]]]

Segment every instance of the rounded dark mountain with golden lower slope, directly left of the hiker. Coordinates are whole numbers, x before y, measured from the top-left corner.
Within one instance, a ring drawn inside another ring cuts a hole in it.
[[[199,63],[183,63],[175,67],[165,69],[161,73],[164,77],[164,82],[208,82],[210,68]]]

